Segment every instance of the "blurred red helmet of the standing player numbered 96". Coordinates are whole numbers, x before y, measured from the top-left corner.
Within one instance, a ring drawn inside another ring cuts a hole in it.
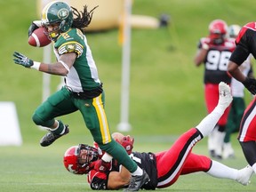
[[[228,25],[224,20],[212,20],[209,32],[212,44],[222,44],[228,32]]]

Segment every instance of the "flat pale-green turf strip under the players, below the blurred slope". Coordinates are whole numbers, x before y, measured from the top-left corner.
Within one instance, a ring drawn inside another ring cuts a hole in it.
[[[84,175],[73,175],[66,171],[62,164],[64,151],[72,144],[68,141],[68,135],[57,140],[48,148],[41,148],[38,143],[25,144],[22,148],[2,147],[0,148],[0,188],[1,192],[51,192],[51,191],[87,191],[91,190]],[[159,140],[158,137],[148,138],[151,142],[140,141],[144,138],[135,138],[134,150],[153,151],[167,149],[176,137],[167,136]],[[167,141],[169,140],[169,141]],[[88,140],[89,141],[89,140]],[[89,142],[90,143],[90,142]],[[234,168],[243,168],[246,163],[241,153],[241,148],[235,145],[236,158],[220,161]],[[193,152],[205,153],[205,140],[196,144]],[[252,176],[252,183],[243,186],[233,180],[216,179],[204,172],[198,172],[180,176],[180,179],[169,188],[157,189],[156,191],[255,191],[256,179]]]

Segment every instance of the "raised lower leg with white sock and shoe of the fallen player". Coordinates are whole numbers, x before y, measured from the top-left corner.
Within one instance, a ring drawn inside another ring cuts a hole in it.
[[[220,117],[233,100],[229,85],[223,82],[219,84],[219,95],[219,102],[216,108],[196,126],[203,136],[207,136],[212,132]]]

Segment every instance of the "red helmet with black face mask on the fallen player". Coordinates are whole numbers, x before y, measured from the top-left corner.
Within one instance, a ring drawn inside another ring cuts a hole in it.
[[[86,151],[86,158],[81,158],[79,155],[81,150]],[[79,144],[68,148],[63,157],[63,164],[68,172],[74,174],[86,174],[90,172],[90,163],[98,159],[98,149],[92,148],[85,144]]]

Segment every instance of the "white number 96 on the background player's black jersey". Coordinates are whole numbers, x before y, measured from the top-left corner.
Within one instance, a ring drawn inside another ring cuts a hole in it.
[[[207,70],[227,71],[228,60],[230,55],[231,55],[231,52],[220,52],[217,50],[211,50],[207,54],[205,68]]]

